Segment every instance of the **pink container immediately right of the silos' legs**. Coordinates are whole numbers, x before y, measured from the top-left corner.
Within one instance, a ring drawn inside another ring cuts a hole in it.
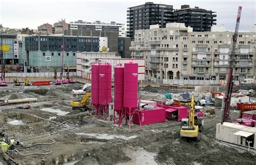
[[[139,117],[142,125],[165,122],[165,108],[156,107],[153,110],[144,110],[142,108],[138,111],[138,113],[134,114],[134,123],[139,124]]]

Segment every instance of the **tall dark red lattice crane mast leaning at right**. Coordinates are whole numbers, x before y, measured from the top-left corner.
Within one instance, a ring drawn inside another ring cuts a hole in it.
[[[241,18],[241,10],[242,6],[238,7],[238,13],[237,13],[237,24],[235,25],[235,32],[232,36],[232,51],[230,54],[230,64],[228,66],[228,77],[227,77],[227,86],[226,86],[226,92],[224,95],[224,110],[223,110],[223,116],[221,120],[221,124],[223,122],[231,122],[231,116],[230,116],[230,101],[231,101],[231,94],[233,90],[233,67],[235,64],[235,45],[237,45],[237,36],[238,36],[238,29],[239,29],[239,23]]]

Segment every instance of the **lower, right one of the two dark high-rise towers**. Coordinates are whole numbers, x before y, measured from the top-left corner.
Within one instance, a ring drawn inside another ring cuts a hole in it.
[[[185,23],[193,31],[211,31],[211,26],[216,25],[217,15],[211,10],[199,9],[197,6],[181,5],[181,9],[173,12],[173,22]]]

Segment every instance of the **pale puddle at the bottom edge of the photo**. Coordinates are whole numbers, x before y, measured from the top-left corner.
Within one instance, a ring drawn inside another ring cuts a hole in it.
[[[143,148],[137,148],[136,151],[131,149],[125,149],[124,153],[126,156],[130,157],[131,161],[125,163],[118,163],[117,165],[140,165],[140,164],[150,164],[157,165],[157,162],[154,161],[154,156],[157,154],[147,152]]]

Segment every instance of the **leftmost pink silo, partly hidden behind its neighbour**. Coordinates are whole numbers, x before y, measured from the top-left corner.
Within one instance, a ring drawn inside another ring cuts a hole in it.
[[[92,74],[91,74],[92,104],[97,105],[99,104],[99,63],[93,64],[91,71],[92,71]]]

